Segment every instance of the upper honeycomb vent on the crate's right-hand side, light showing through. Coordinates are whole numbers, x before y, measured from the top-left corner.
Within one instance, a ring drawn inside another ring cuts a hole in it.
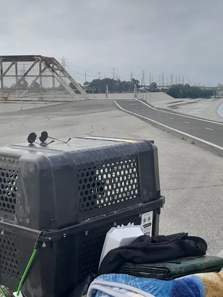
[[[139,198],[136,156],[77,170],[80,213]]]

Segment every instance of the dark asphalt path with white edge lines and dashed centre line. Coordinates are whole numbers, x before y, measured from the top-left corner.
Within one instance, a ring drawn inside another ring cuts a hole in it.
[[[200,146],[223,155],[223,122],[157,109],[136,99],[114,102],[121,110],[129,114],[135,115],[163,130],[194,140]]]

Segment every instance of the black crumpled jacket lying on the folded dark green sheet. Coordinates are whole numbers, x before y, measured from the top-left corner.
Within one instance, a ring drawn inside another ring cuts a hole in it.
[[[206,250],[205,240],[187,233],[152,238],[143,235],[128,246],[110,250],[100,265],[98,275],[114,273],[124,263],[150,264],[179,257],[202,256]]]

